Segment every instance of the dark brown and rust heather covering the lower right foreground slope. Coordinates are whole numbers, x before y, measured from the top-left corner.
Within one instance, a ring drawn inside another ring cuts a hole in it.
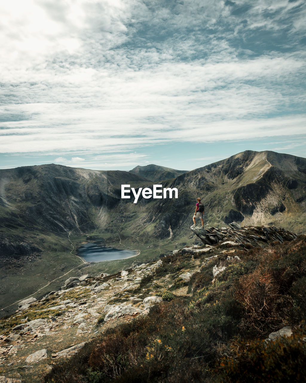
[[[147,316],[107,330],[55,365],[45,382],[302,381],[306,237],[239,251],[241,262],[227,261],[214,284],[210,262],[190,279],[192,296],[164,292],[166,300]],[[157,275],[186,262],[188,257],[167,257]],[[288,325],[293,337],[264,342]]]

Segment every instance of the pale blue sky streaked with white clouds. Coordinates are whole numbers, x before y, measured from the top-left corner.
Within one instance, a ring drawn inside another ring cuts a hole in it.
[[[10,0],[0,14],[0,169],[306,157],[304,0]]]

